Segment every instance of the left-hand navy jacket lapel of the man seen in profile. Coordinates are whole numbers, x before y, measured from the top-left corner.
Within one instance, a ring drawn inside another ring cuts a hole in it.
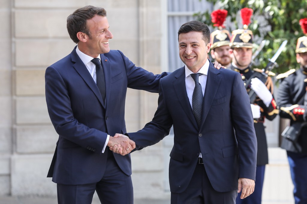
[[[75,64],[73,65],[74,69],[78,72],[78,74],[80,74],[80,76],[83,78],[83,80],[85,81],[85,83],[90,87],[90,89],[94,92],[94,94],[96,95],[96,97],[98,98],[99,102],[101,103],[101,105],[103,107],[104,103],[101,97],[101,94],[99,92],[99,89],[97,87],[97,85],[95,84],[94,79],[92,78],[91,74],[88,72],[86,66],[84,65],[84,63],[81,61],[81,59],[79,58],[79,56],[76,53],[76,47],[75,49],[71,52],[71,58],[72,58],[72,62],[75,62]],[[107,86],[106,86],[107,88]]]

